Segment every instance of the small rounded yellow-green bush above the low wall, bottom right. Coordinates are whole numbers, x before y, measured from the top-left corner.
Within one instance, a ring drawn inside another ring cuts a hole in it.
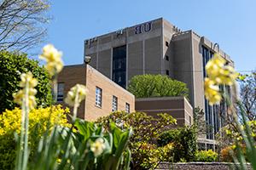
[[[201,150],[196,152],[195,154],[196,161],[212,162],[212,161],[217,161],[217,158],[218,158],[218,153],[212,150]]]

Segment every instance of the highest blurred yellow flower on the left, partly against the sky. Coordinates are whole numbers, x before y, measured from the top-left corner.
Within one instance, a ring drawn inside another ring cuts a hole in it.
[[[58,51],[52,44],[48,44],[43,48],[43,54],[39,56],[40,59],[46,60],[46,70],[50,76],[61,72],[63,68],[63,61],[61,59],[62,53]]]

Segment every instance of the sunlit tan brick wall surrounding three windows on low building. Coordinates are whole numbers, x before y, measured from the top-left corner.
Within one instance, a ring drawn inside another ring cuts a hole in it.
[[[104,77],[99,71],[88,66],[86,72],[86,87],[89,90],[85,102],[85,119],[94,121],[99,116],[108,116],[112,112],[113,95],[118,98],[118,111],[125,111],[125,103],[134,111],[134,95],[118,84]],[[96,106],[96,87],[102,88],[102,107]]]

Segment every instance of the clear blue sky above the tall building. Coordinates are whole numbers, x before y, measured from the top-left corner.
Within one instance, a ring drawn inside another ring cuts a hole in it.
[[[46,42],[63,52],[65,65],[81,64],[84,39],[163,17],[183,31],[218,42],[236,70],[256,69],[255,0],[55,0]]]

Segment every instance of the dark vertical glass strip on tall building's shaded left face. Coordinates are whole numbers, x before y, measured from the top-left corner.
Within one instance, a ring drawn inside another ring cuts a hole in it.
[[[112,80],[125,88],[126,86],[126,45],[113,48]]]

